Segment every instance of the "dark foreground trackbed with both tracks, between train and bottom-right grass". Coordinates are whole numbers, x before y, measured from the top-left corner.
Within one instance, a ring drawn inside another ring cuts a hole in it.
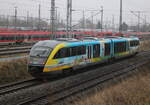
[[[111,86],[115,81],[127,79],[137,72],[141,72],[137,68],[149,64],[150,61],[150,52],[147,51],[149,50],[147,45],[149,45],[149,41],[143,42],[141,52],[135,57],[91,66],[82,70],[79,69],[73,73],[67,73],[46,81],[41,81],[28,75],[27,77],[30,79],[1,85],[0,103],[4,105],[72,103],[74,102],[73,100],[82,99],[81,96],[85,97],[85,95],[91,94],[95,87],[101,90],[107,87],[108,84],[108,86]],[[147,47],[144,49],[144,46]]]

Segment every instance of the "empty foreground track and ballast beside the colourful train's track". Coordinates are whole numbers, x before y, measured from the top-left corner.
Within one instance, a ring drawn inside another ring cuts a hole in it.
[[[15,94],[2,95],[0,102],[7,105],[10,104],[9,101],[13,100],[14,102],[11,105],[45,105],[48,103],[47,97],[49,96],[49,104],[55,104],[116,77],[124,76],[149,60],[150,52],[142,52],[136,57],[116,61],[103,67],[86,68],[86,71],[88,69],[87,72],[77,73],[61,80],[41,84],[29,90],[22,92],[17,92],[17,90]],[[24,94],[26,95],[23,96]],[[15,98],[13,97],[14,95]],[[20,98],[20,96],[23,96],[23,98]],[[6,98],[7,100],[4,101]]]

